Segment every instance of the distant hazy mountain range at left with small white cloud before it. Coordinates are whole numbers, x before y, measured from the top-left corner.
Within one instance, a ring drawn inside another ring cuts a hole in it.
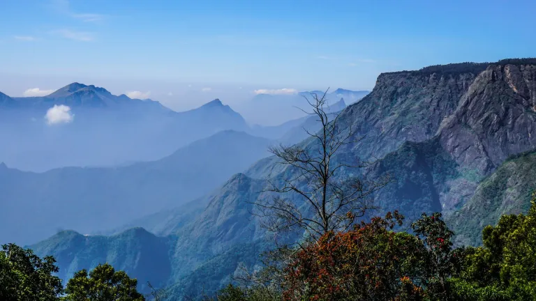
[[[248,130],[244,118],[219,100],[175,112],[79,83],[45,97],[2,99],[0,160],[26,171],[158,160],[221,130]],[[47,115],[55,105],[68,111]]]

